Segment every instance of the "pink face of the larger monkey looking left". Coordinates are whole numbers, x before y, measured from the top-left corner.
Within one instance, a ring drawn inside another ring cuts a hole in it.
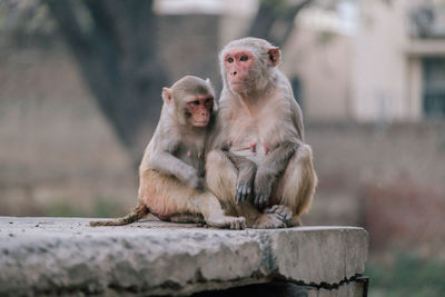
[[[254,55],[248,50],[233,50],[226,53],[224,66],[231,90],[239,92],[249,88],[249,71],[254,63]]]

